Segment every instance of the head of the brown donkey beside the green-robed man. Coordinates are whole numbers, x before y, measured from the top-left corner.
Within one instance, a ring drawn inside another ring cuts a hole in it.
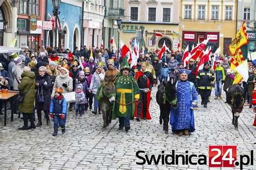
[[[116,87],[114,86],[114,83],[112,82],[112,80],[107,79],[107,77],[105,77],[104,80],[104,95],[109,98],[109,102],[113,103],[114,100],[116,100],[115,96],[115,91],[116,91]]]

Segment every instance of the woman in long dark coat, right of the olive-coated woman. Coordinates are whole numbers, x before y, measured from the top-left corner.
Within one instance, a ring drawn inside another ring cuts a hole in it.
[[[49,125],[50,118],[49,118],[49,111],[50,111],[50,104],[51,104],[51,91],[52,82],[49,74],[47,73],[47,68],[44,66],[39,67],[38,75],[36,76],[36,109],[37,109],[37,118],[38,123],[37,127],[42,125],[42,110],[44,111],[46,117],[46,123]],[[38,101],[38,95],[43,92],[44,102]]]

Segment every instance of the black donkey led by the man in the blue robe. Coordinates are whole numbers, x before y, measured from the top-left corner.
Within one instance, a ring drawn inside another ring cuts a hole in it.
[[[168,124],[170,119],[171,107],[177,107],[177,102],[172,102],[176,100],[176,93],[176,82],[163,82],[163,84],[160,84],[158,86],[157,104],[160,107],[159,123],[162,124],[164,120],[163,130],[165,131],[165,134],[168,134]]]

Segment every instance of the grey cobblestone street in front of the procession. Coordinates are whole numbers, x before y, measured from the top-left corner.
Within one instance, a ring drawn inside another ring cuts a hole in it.
[[[59,129],[57,137],[52,136],[53,122],[47,126],[46,119],[40,128],[21,131],[17,129],[23,125],[22,119],[15,115],[14,122],[10,122],[8,112],[8,124],[3,126],[1,115],[0,169],[208,169],[208,165],[137,165],[136,161],[142,160],[136,158],[136,152],[143,150],[145,154],[158,155],[161,151],[171,154],[174,150],[175,154],[188,151],[188,155],[208,155],[209,145],[237,145],[237,155],[250,155],[251,150],[256,151],[252,109],[245,107],[238,120],[238,130],[234,130],[232,112],[224,103],[225,98],[214,100],[212,91],[208,108],[200,105],[195,112],[196,131],[179,137],[171,132],[170,125],[169,134],[164,133],[159,124],[160,111],[155,96],[156,88],[150,107],[152,120],[131,121],[131,130],[127,133],[118,130],[118,120],[103,130],[102,115],[95,116],[90,111],[85,112],[82,119],[73,118],[74,111],[70,112],[66,133],[62,134]],[[256,169],[256,165],[244,168]]]

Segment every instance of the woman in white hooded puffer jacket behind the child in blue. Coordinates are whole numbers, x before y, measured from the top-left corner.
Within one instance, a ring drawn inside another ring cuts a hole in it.
[[[63,93],[69,93],[73,89],[73,80],[69,76],[69,70],[64,67],[60,69],[60,74],[55,79],[51,97],[54,96],[57,87],[62,88]]]

